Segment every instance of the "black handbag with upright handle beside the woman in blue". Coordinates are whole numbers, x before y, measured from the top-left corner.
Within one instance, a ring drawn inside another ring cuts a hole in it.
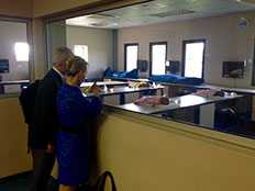
[[[110,171],[104,171],[98,178],[98,180],[96,181],[95,184],[86,183],[86,184],[79,187],[77,191],[104,191],[108,177],[111,180],[112,191],[117,191],[117,186],[115,186],[115,182],[114,182],[114,178],[113,178],[113,176],[112,176],[112,173]]]

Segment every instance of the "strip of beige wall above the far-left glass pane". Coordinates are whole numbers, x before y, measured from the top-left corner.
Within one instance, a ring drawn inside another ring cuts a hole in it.
[[[0,14],[32,18],[33,0],[1,0]]]

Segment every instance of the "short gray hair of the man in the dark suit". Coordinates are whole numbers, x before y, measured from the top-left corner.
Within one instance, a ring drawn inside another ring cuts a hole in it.
[[[53,54],[53,66],[57,66],[63,63],[68,63],[71,58],[74,58],[74,54],[68,47],[58,47],[55,49]]]

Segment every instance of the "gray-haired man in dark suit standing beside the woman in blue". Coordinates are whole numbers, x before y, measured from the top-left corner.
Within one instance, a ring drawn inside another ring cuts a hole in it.
[[[56,109],[57,90],[64,81],[67,63],[74,57],[67,47],[53,56],[53,68],[40,82],[34,108],[34,130],[31,150],[34,179],[31,191],[46,191],[55,161],[55,133],[59,127]]]

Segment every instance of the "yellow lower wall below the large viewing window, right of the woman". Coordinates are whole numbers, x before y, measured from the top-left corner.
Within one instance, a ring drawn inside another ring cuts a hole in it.
[[[119,190],[254,191],[255,141],[153,121],[114,112],[100,127],[101,170]]]

